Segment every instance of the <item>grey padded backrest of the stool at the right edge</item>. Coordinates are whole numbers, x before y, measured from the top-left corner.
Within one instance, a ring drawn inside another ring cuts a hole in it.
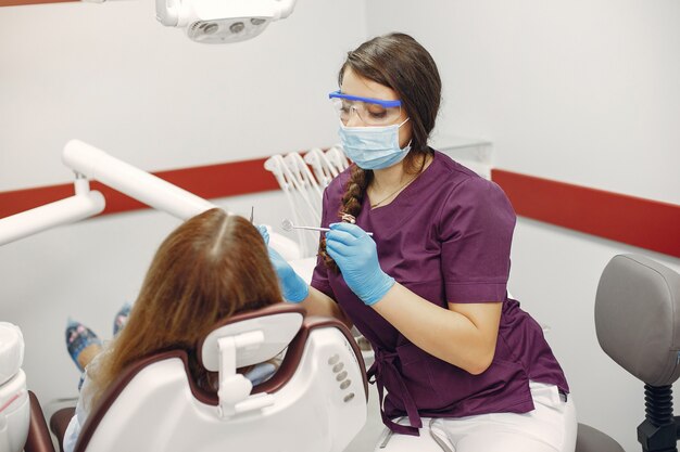
[[[652,386],[680,376],[680,274],[635,255],[615,256],[595,297],[595,330],[602,349]]]

